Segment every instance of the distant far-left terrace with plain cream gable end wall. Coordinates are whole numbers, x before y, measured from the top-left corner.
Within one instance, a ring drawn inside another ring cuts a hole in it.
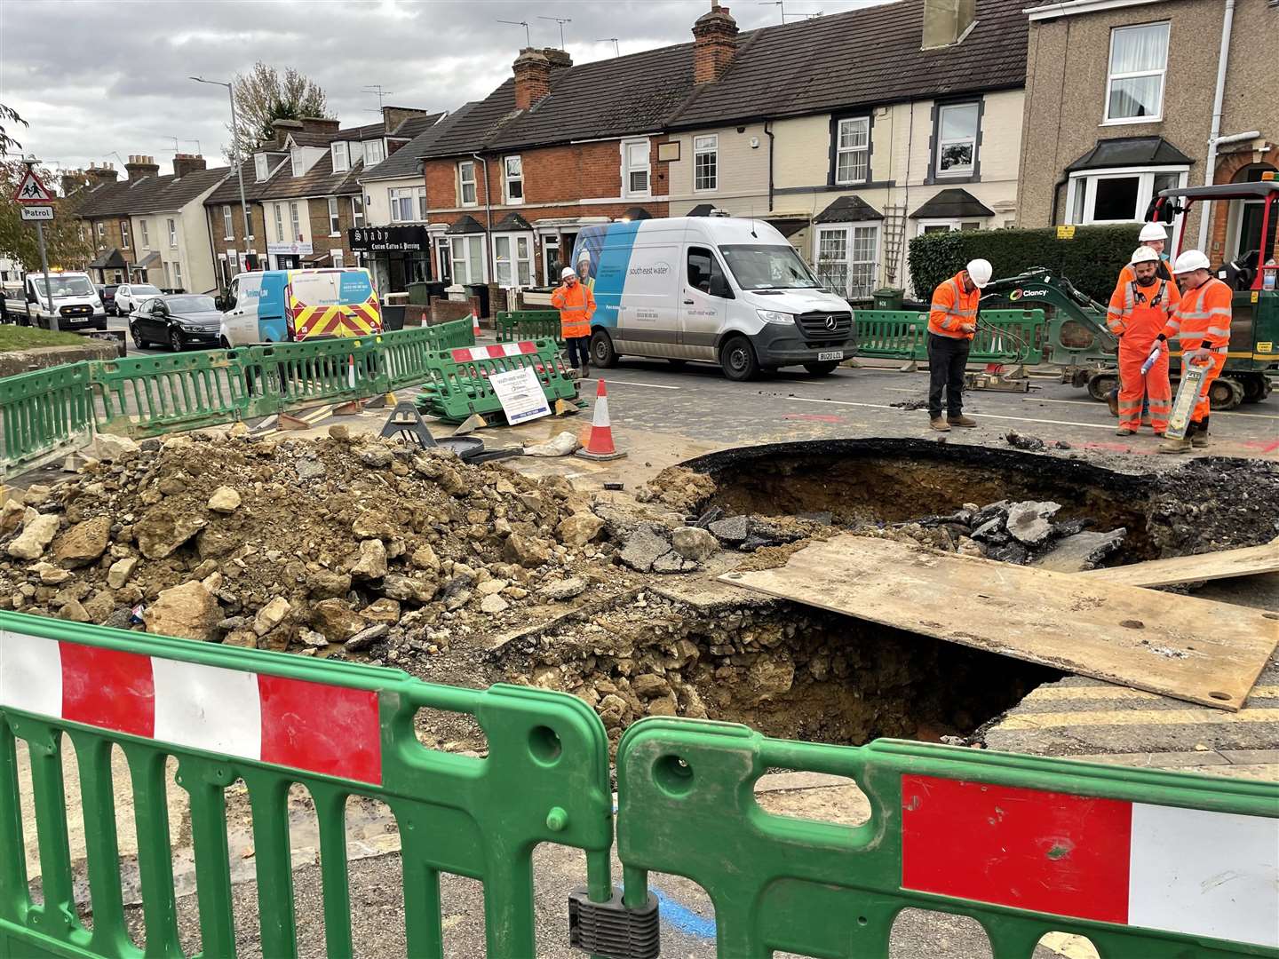
[[[92,237],[88,269],[97,283],[145,281],[188,293],[217,288],[202,203],[228,170],[210,170],[202,156],[188,153],[173,165],[174,173],[161,176],[153,157],[130,156],[123,182],[113,166],[84,171],[88,194],[75,215]]]

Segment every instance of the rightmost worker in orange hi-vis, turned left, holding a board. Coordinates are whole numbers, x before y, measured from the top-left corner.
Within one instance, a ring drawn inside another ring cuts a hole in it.
[[[1187,249],[1173,263],[1173,275],[1182,288],[1182,302],[1173,312],[1168,336],[1182,344],[1182,370],[1207,366],[1200,384],[1195,412],[1181,440],[1164,440],[1160,453],[1187,453],[1207,446],[1209,394],[1221,375],[1230,348],[1230,288],[1212,276],[1206,256]]]

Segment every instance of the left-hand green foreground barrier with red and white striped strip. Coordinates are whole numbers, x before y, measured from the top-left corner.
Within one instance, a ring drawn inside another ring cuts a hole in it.
[[[191,803],[203,956],[237,954],[225,790],[248,789],[260,953],[298,954],[288,793],[315,800],[326,955],[352,955],[345,806],[388,804],[399,826],[408,955],[441,956],[440,872],[480,880],[487,955],[536,954],[532,853],[586,852],[591,901],[611,898],[608,739],[579,699],[521,687],[458,689],[405,673],[139,635],[0,612],[0,958],[141,959],[125,927],[115,795],[132,790],[146,956],[178,959],[165,761]],[[485,758],[423,747],[422,708],[469,713]],[[42,903],[26,867],[15,739],[31,757]],[[113,781],[119,745],[128,781]],[[68,809],[63,751],[79,770]],[[83,816],[88,895],[73,884],[68,817]],[[92,909],[92,927],[78,907]],[[358,907],[357,907],[358,908]]]

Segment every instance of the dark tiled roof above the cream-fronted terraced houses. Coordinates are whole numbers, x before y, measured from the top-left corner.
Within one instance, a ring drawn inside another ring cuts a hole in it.
[[[1026,83],[1023,0],[981,0],[961,43],[921,50],[923,0],[868,6],[739,37],[715,83],[669,118],[674,128],[793,116]]]

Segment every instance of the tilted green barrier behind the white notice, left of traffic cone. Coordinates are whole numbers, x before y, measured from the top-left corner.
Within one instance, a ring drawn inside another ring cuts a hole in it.
[[[551,407],[558,399],[576,400],[577,384],[564,366],[555,341],[536,340],[532,345],[535,352],[512,355],[462,355],[472,353],[466,348],[436,353],[427,363],[430,376],[418,394],[418,408],[449,422],[462,422],[473,413],[501,413],[501,400],[489,384],[489,377],[522,367],[536,371]],[[485,350],[485,347],[473,348],[473,353]],[[491,352],[496,350],[495,347]]]

